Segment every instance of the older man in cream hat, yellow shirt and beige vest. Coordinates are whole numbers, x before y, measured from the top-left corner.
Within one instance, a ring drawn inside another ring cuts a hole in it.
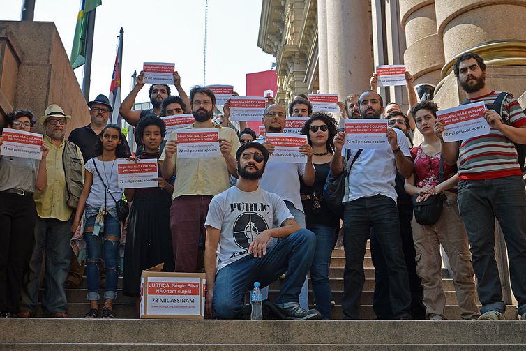
[[[35,246],[29,262],[29,281],[22,289],[20,317],[36,312],[40,266],[45,255],[45,281],[42,309],[49,317],[67,317],[68,305],[64,281],[71,258],[70,227],[72,213],[82,192],[84,162],[80,149],[65,140],[71,116],[60,106],[50,105],[38,124],[43,126],[44,144],[49,149],[46,158],[47,185],[34,195],[36,212]]]

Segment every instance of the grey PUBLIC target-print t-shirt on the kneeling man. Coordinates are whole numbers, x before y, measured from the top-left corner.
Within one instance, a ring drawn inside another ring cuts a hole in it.
[[[294,217],[285,202],[262,188],[248,193],[232,186],[214,196],[204,225],[221,231],[217,271],[248,255],[248,247],[260,232],[280,227],[288,218]],[[266,246],[272,244],[270,240]]]

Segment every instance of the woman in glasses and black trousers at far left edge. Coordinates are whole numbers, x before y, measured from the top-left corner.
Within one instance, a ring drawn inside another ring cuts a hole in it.
[[[7,114],[6,122],[7,128],[31,132],[35,117],[29,110],[15,110]],[[0,155],[0,317],[14,317],[20,308],[22,274],[33,253],[33,193],[47,183],[49,149],[44,144],[40,149],[40,160]]]

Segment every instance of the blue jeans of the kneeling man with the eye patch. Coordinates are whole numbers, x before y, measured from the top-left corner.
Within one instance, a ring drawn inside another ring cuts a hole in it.
[[[218,319],[239,317],[243,299],[255,281],[266,287],[283,273],[277,304],[298,302],[301,285],[313,262],[316,237],[301,229],[271,246],[263,257],[246,255],[220,269],[213,289],[213,311]]]

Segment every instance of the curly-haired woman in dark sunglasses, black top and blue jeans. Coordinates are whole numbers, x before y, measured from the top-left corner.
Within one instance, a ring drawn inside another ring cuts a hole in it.
[[[313,186],[301,181],[301,202],[305,211],[306,227],[316,234],[316,251],[310,278],[316,308],[323,319],[331,319],[331,285],[329,285],[329,264],[331,253],[340,227],[340,219],[327,209],[322,201],[323,187],[329,174],[336,135],[336,121],[329,114],[316,112],[301,129],[307,135],[308,144],[313,147],[313,163],[316,176]]]

